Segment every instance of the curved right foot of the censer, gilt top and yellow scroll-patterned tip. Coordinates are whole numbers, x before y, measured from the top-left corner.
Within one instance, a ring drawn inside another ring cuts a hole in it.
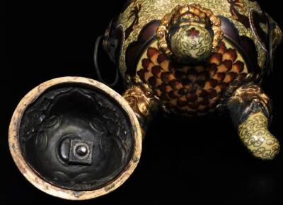
[[[258,86],[238,88],[228,102],[238,135],[256,158],[272,160],[279,153],[279,141],[268,130],[271,119],[270,99]]]

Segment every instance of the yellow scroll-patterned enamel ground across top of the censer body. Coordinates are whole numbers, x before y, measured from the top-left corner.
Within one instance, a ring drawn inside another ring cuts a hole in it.
[[[128,45],[131,42],[134,42],[139,37],[139,33],[144,28],[144,26],[154,20],[161,20],[163,16],[171,12],[175,6],[178,5],[184,5],[184,4],[200,4],[200,6],[204,8],[209,8],[212,10],[213,13],[215,13],[216,16],[224,16],[226,18],[229,18],[231,22],[236,26],[236,29],[239,32],[239,35],[244,35],[247,37],[250,37],[252,40],[254,40],[256,49],[258,52],[258,65],[260,68],[263,68],[265,66],[265,59],[266,59],[266,52],[265,49],[262,49],[262,46],[260,45],[260,42],[253,34],[253,31],[250,27],[246,28],[243,23],[238,21],[237,19],[232,17],[231,13],[231,4],[229,4],[228,0],[217,0],[217,1],[207,1],[207,0],[162,0],[162,1],[152,1],[152,0],[136,0],[132,1],[132,4],[129,4],[127,9],[121,15],[119,16],[118,23],[121,23],[125,28],[130,28],[130,25],[134,21],[134,16],[132,16],[132,11],[135,6],[138,4],[141,5],[140,11],[139,11],[139,23],[134,25],[134,29],[132,30],[132,33],[129,33],[129,37],[127,37],[127,40],[125,40],[125,47],[122,50],[121,59],[120,59],[120,72],[122,76],[125,75],[125,71],[127,70],[126,66],[126,59],[125,59],[125,52],[128,47]],[[250,0],[241,0],[241,3],[245,7],[243,10],[241,9],[241,4],[236,2],[233,2],[236,11],[238,13],[241,13],[241,15],[248,17],[249,11],[251,8],[262,11],[260,6],[256,1],[250,1]],[[236,16],[235,16],[236,17]]]

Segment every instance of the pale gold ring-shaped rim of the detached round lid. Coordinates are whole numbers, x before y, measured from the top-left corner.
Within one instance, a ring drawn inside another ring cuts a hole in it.
[[[73,190],[62,189],[54,185],[51,185],[45,180],[42,180],[42,178],[39,177],[35,173],[35,171],[33,171],[30,168],[30,166],[26,163],[21,153],[21,148],[20,148],[18,138],[19,138],[19,128],[21,124],[21,119],[23,117],[23,113],[25,112],[25,109],[31,103],[35,102],[35,100],[42,93],[44,93],[45,90],[47,90],[48,88],[51,88],[52,86],[57,86],[59,84],[64,84],[64,83],[78,83],[78,84],[91,86],[93,88],[103,90],[107,95],[110,95],[111,98],[114,98],[115,100],[117,100],[117,102],[122,106],[125,112],[127,112],[127,114],[129,115],[129,119],[132,124],[132,128],[134,130],[134,153],[133,153],[132,159],[130,160],[129,165],[127,165],[127,167],[125,168],[124,172],[122,172],[122,174],[119,177],[117,177],[117,179],[115,179],[113,182],[111,182],[110,184],[108,184],[107,186],[103,188],[96,189],[93,191],[73,191]],[[129,104],[127,103],[127,101],[124,98],[122,98],[121,95],[116,93],[114,90],[112,90],[108,86],[103,85],[103,83],[94,81],[89,78],[81,78],[81,77],[55,78],[55,79],[52,79],[50,81],[40,84],[40,86],[37,86],[36,88],[31,90],[21,100],[15,112],[13,113],[13,117],[11,119],[11,124],[10,124],[9,132],[8,132],[8,144],[9,144],[11,155],[18,169],[25,176],[25,178],[31,184],[37,187],[37,189],[40,189],[42,192],[50,194],[54,197],[59,197],[62,199],[69,199],[69,200],[93,199],[93,198],[108,194],[114,191],[115,189],[117,189],[118,187],[120,187],[129,178],[129,176],[132,175],[132,172],[134,172],[134,169],[137,167],[137,164],[139,163],[139,158],[141,156],[141,142],[142,142],[141,128],[139,126],[138,119],[136,115],[134,114],[132,108],[129,107]]]

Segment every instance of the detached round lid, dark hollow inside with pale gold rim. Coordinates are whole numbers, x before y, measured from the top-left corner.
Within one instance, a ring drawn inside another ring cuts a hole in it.
[[[121,95],[88,78],[42,83],[21,100],[9,129],[13,160],[38,189],[83,200],[122,185],[141,155],[141,129]]]

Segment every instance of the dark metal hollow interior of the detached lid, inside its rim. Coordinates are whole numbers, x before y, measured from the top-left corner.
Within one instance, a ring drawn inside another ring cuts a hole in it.
[[[25,161],[43,180],[65,189],[94,190],[129,164],[133,136],[125,110],[107,93],[64,84],[27,107],[19,140]],[[78,141],[88,144],[87,159],[72,153]]]

